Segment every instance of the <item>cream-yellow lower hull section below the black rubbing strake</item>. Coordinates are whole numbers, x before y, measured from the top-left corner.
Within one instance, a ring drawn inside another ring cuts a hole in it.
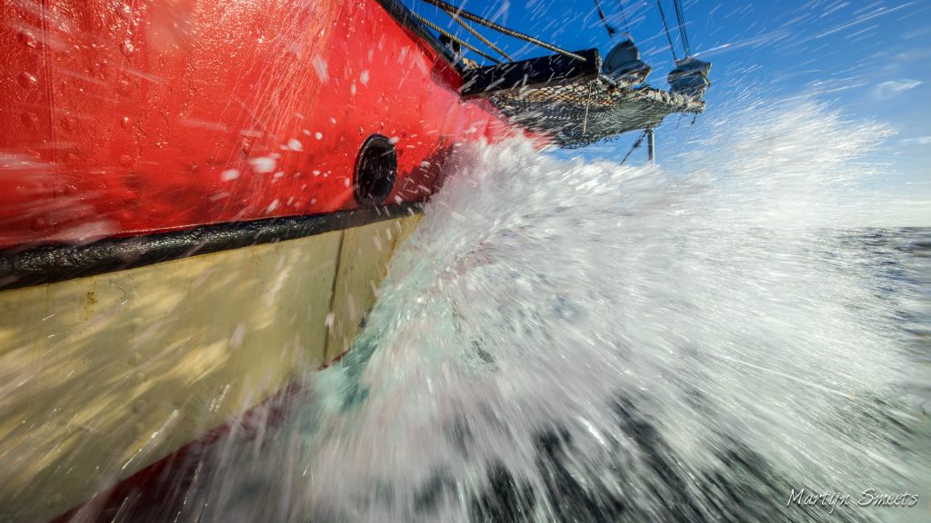
[[[0,293],[7,516],[57,516],[342,355],[416,221]]]

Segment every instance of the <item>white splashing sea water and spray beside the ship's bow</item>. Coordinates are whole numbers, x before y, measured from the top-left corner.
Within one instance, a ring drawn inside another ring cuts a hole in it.
[[[720,124],[656,168],[463,151],[351,352],[149,516],[931,520],[931,230],[851,204],[888,130]]]

